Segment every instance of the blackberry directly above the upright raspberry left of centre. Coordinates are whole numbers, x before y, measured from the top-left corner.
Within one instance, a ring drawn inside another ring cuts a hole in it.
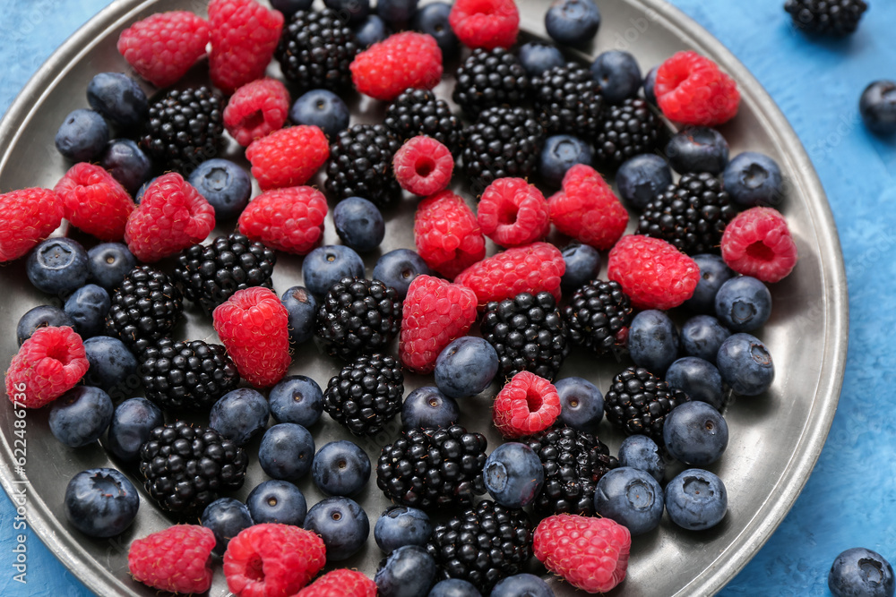
[[[262,243],[234,233],[211,244],[194,244],[177,257],[174,279],[184,296],[206,312],[228,300],[237,290],[271,287],[277,254]]]

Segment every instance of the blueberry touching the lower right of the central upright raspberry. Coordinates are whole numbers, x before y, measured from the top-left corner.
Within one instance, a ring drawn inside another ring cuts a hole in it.
[[[488,388],[497,372],[495,346],[480,337],[459,337],[435,359],[435,386],[450,398],[476,396]]]

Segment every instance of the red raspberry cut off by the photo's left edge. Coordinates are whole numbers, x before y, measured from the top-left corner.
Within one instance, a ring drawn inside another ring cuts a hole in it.
[[[62,223],[65,206],[49,189],[0,195],[0,263],[19,259]]]

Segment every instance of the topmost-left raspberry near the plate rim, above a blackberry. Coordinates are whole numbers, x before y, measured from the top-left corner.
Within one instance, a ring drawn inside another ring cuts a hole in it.
[[[210,38],[209,23],[194,13],[158,13],[122,31],[118,53],[143,79],[168,87],[205,55]]]

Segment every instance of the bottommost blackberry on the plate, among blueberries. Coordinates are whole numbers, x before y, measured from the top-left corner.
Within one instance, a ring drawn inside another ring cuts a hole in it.
[[[460,578],[487,595],[506,576],[526,571],[532,557],[532,522],[525,510],[483,499],[437,525],[426,544],[441,578]]]

